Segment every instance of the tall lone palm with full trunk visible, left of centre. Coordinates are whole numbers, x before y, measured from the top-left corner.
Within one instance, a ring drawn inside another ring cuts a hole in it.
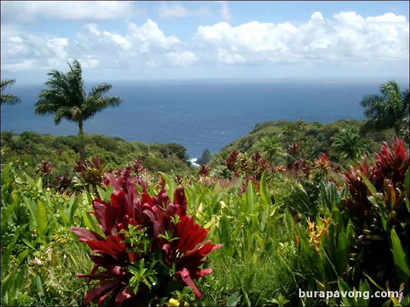
[[[74,60],[73,65],[69,64],[69,66],[70,71],[67,73],[58,70],[51,70],[47,73],[50,78],[45,85],[49,89],[42,90],[38,95],[40,99],[35,104],[35,114],[54,114],[56,125],[63,118],[76,122],[79,129],[80,160],[84,161],[86,154],[83,122],[107,107],[119,106],[123,100],[119,96],[103,96],[112,87],[108,83],[101,83],[93,87],[87,95],[84,90],[80,63]]]

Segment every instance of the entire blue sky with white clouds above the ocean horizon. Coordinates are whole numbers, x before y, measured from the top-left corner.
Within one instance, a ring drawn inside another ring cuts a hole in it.
[[[1,1],[1,79],[409,79],[409,1]]]

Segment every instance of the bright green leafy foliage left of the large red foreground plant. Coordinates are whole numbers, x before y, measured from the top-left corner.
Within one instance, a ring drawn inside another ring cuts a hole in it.
[[[84,292],[75,273],[91,266],[68,226],[82,224],[81,212],[89,209],[75,194],[44,189],[40,173],[33,179],[16,164],[3,165],[2,306],[81,305]]]

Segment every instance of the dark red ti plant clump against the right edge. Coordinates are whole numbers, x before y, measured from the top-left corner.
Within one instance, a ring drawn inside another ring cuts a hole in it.
[[[354,271],[359,277],[363,276],[358,274],[366,273],[379,285],[385,285],[388,280],[390,289],[399,289],[400,285],[395,275],[389,229],[395,229],[404,251],[410,246],[408,190],[404,184],[408,168],[409,150],[395,137],[391,147],[383,143],[375,155],[375,163],[369,163],[364,156],[362,164],[351,166],[345,173],[349,195],[342,199],[343,210],[357,236],[350,242],[355,267],[359,268]],[[363,178],[367,178],[368,183]],[[370,197],[370,186],[380,200]]]

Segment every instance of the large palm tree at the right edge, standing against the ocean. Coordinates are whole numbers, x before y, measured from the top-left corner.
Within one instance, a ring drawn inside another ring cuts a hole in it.
[[[367,120],[361,125],[360,133],[394,128],[396,135],[405,134],[409,124],[409,88],[400,92],[399,85],[389,81],[380,85],[380,92],[381,95],[370,94],[360,100],[360,105],[367,108],[363,113]]]

